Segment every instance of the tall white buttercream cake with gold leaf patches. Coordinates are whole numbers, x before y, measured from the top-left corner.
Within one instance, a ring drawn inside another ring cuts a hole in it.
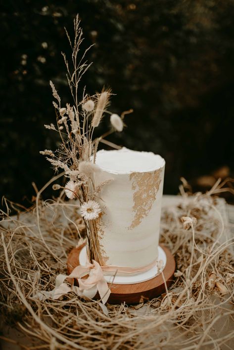
[[[165,160],[123,148],[98,151],[95,185],[102,215],[98,237],[102,265],[142,268],[157,259]]]

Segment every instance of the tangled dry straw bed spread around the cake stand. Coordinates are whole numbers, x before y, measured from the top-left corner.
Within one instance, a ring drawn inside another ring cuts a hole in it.
[[[78,243],[84,224],[76,202],[40,200],[1,223],[2,349],[233,349],[234,254],[223,199],[164,196],[161,242],[175,256],[175,283],[138,306],[84,301],[70,293],[39,301]],[[183,218],[183,219],[182,219]],[[108,312],[108,313],[107,313]]]

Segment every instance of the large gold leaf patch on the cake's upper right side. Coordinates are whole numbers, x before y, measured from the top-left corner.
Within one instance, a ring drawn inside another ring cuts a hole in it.
[[[140,225],[142,219],[148,215],[152,208],[152,204],[156,199],[161,183],[161,171],[158,169],[153,172],[131,173],[133,193],[133,211],[135,212],[130,230]]]

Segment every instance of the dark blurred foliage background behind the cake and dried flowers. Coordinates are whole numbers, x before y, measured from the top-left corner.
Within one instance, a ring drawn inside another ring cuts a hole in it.
[[[0,13],[0,194],[30,206],[32,182],[41,188],[53,176],[39,154],[58,143],[44,128],[55,121],[49,80],[63,105],[71,102],[60,52],[70,54],[64,26],[72,35],[76,13],[84,48],[95,44],[80,93],[110,86],[111,112],[134,109],[109,140],[162,155],[166,194],[178,193],[181,176],[206,190],[234,175],[233,0],[8,0]]]

